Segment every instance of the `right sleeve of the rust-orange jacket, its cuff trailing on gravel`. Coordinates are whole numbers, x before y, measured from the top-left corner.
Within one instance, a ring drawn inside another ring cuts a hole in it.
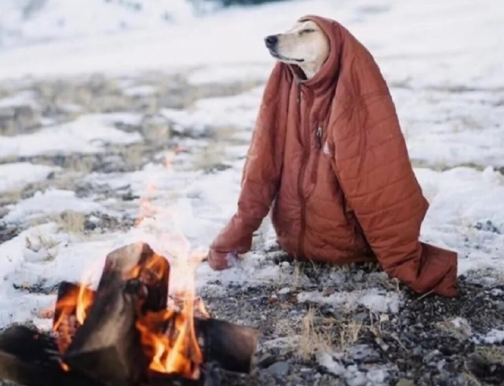
[[[335,170],[347,202],[387,273],[414,291],[456,296],[457,255],[419,242],[428,203],[387,85],[374,61],[352,71],[344,87],[354,99],[333,123]]]

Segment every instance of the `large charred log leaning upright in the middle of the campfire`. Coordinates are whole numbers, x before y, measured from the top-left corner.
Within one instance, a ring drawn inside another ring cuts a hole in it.
[[[95,301],[64,361],[108,386],[128,386],[146,376],[137,317],[166,308],[169,265],[147,244],[132,244],[107,256]]]

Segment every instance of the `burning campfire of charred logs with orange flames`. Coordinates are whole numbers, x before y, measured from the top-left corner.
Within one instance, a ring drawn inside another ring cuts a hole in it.
[[[194,292],[169,293],[170,264],[147,244],[110,253],[96,290],[59,286],[52,333],[0,334],[0,379],[28,386],[218,385],[248,372],[258,331],[209,317]]]

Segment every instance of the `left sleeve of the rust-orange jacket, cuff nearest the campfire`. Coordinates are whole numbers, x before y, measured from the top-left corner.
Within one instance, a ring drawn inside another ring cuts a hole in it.
[[[285,68],[278,63],[266,84],[247,152],[238,208],[212,243],[215,252],[248,252],[254,231],[269,212],[282,172],[288,89]]]

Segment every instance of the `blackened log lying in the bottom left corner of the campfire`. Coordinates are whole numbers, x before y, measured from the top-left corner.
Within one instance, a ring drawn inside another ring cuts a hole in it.
[[[0,334],[0,380],[26,386],[102,386],[75,371],[64,371],[53,337],[25,326]]]

